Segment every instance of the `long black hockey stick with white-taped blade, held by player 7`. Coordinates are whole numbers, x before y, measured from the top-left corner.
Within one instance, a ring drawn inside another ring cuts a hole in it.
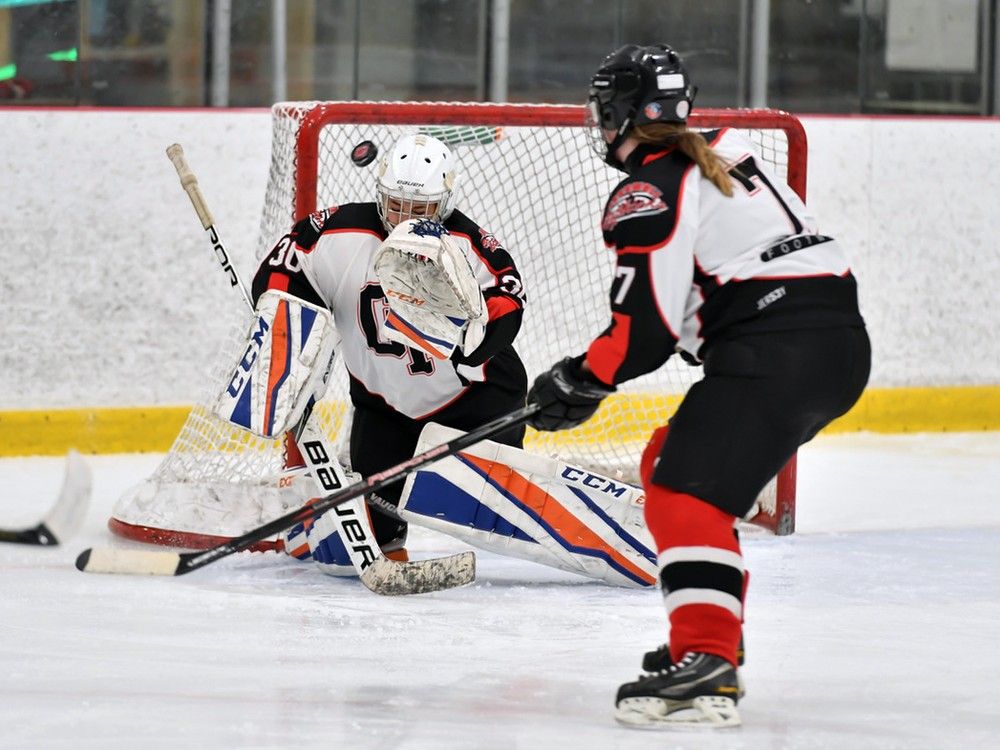
[[[413,458],[409,458],[393,467],[373,474],[365,480],[352,484],[350,487],[322,497],[312,505],[303,506],[211,549],[201,552],[87,549],[77,557],[76,567],[88,573],[128,573],[133,575],[161,576],[178,576],[190,573],[192,570],[197,570],[234,552],[245,550],[255,542],[291,528],[295,524],[306,521],[315,515],[338,508],[349,500],[361,497],[370,492],[378,492],[383,487],[402,480],[411,472],[442,458],[453,456],[469,446],[478,443],[480,440],[486,440],[504,430],[523,424],[538,409],[537,404],[530,404],[510,414],[497,417],[471,432],[458,435],[446,443],[437,445],[423,453],[417,454]],[[349,537],[345,537],[346,539],[349,539]],[[458,557],[462,557],[462,555]],[[468,563],[474,565],[474,559],[470,555]],[[388,565],[385,563],[388,563]],[[384,589],[380,593],[413,594],[447,588],[447,586],[440,584],[448,583],[448,581],[434,580],[428,578],[426,575],[420,575],[416,579],[409,578],[410,573],[416,572],[413,568],[414,565],[419,565],[419,563],[396,563],[385,558],[380,558],[371,561],[366,566],[365,573],[374,571],[370,575],[373,579],[377,579],[379,585]],[[401,566],[401,569],[397,570],[396,566]]]

